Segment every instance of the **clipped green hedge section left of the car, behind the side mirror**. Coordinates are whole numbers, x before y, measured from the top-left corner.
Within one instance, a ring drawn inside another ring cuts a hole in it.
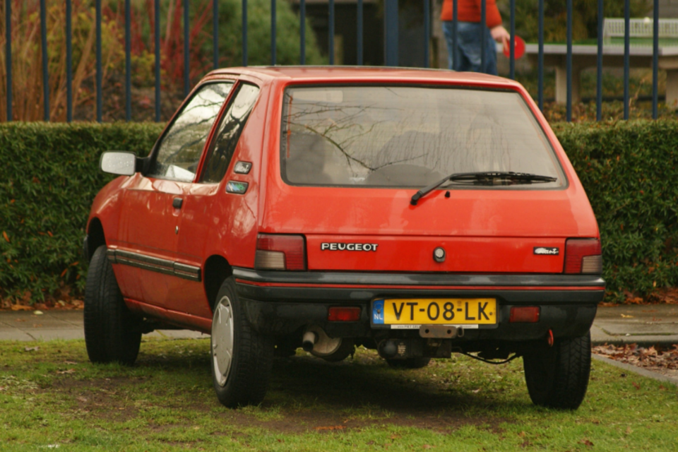
[[[148,154],[161,130],[160,124],[0,126],[0,296],[38,300],[83,289],[85,222],[97,191],[112,179],[99,171],[99,155]]]

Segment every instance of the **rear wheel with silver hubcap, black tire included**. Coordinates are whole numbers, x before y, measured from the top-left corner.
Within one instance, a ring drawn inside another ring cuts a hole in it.
[[[228,408],[261,403],[273,367],[273,340],[254,331],[233,278],[222,283],[214,307],[211,367],[214,390]]]

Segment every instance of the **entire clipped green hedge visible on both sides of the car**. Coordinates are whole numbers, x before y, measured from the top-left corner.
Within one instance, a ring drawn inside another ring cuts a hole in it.
[[[0,125],[0,297],[83,290],[85,221],[104,150],[148,153],[160,124]],[[678,285],[678,121],[554,126],[602,236],[608,301]]]

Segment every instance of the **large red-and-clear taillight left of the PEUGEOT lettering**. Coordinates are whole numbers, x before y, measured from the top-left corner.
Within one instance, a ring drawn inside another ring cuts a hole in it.
[[[258,234],[254,268],[257,270],[306,270],[304,236]]]

